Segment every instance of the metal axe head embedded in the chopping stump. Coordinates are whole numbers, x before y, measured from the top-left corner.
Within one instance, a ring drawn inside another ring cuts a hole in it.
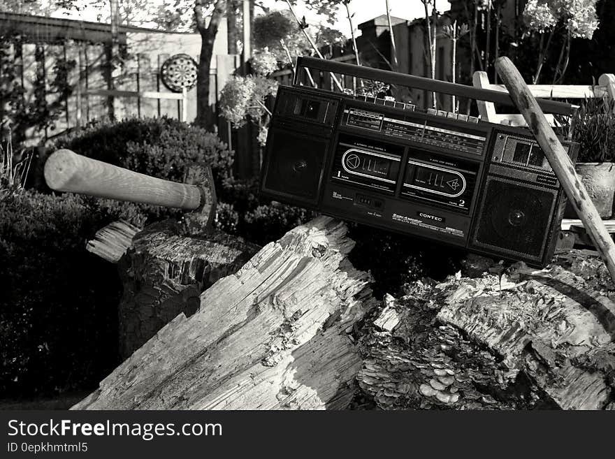
[[[186,170],[184,183],[195,185],[201,191],[201,205],[184,214],[182,226],[191,235],[209,233],[216,217],[216,189],[210,166],[192,165]]]

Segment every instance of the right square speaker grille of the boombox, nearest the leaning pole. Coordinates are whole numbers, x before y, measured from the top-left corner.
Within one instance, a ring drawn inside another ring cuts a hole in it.
[[[488,177],[471,244],[541,262],[557,192]]]

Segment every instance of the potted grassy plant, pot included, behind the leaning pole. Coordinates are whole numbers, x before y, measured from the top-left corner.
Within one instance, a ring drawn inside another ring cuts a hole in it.
[[[572,139],[580,144],[577,175],[602,218],[613,214],[615,192],[615,101],[586,99],[574,117]],[[570,203],[565,217],[577,218]]]

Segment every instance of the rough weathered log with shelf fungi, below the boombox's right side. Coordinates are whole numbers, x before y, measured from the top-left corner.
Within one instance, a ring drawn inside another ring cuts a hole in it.
[[[472,260],[491,273],[414,284],[395,328],[368,324],[357,379],[376,405],[615,409],[615,291],[600,259],[572,251],[540,271]]]

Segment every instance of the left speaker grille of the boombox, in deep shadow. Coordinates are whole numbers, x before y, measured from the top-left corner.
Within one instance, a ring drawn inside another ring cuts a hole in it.
[[[268,140],[264,189],[316,203],[328,140],[275,129]]]

